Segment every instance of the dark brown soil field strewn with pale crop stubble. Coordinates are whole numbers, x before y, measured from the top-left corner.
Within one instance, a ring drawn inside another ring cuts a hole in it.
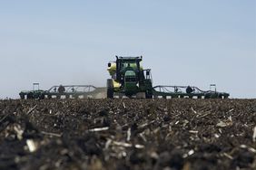
[[[0,101],[0,169],[256,169],[256,99]]]

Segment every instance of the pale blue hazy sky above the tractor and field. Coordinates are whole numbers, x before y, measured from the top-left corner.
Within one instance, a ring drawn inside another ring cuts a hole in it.
[[[0,0],[0,99],[105,86],[115,55],[143,55],[155,86],[256,99],[256,1]]]

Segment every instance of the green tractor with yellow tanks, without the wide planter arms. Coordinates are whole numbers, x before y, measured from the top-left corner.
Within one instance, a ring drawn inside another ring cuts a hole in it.
[[[114,94],[123,94],[129,98],[139,93],[146,99],[153,98],[151,70],[143,70],[140,62],[143,57],[118,57],[115,62],[108,63],[108,71],[112,79],[107,80],[107,98]]]

